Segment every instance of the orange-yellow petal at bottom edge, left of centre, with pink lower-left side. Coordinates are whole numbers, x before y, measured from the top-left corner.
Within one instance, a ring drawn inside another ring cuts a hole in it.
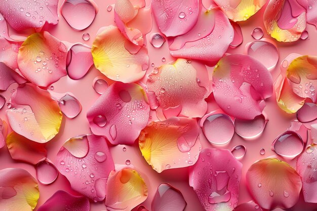
[[[112,171],[106,188],[106,206],[109,211],[129,211],[147,198],[147,187],[140,174],[132,168]]]

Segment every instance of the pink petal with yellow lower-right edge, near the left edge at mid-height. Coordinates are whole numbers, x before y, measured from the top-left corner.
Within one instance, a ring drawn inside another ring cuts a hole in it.
[[[62,113],[48,91],[31,83],[20,85],[7,113],[11,128],[25,138],[45,143],[59,132]]]

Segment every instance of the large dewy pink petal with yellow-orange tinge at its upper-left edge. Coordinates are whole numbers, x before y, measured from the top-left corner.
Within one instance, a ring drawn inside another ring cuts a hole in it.
[[[222,58],[213,72],[213,93],[219,107],[240,119],[262,113],[272,95],[272,76],[256,59],[240,54]]]

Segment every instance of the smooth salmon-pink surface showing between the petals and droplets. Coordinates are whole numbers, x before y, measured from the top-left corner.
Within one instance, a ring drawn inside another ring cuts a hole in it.
[[[91,24],[90,27],[83,31],[75,31],[73,30],[65,21],[65,19],[59,13],[59,23],[55,26],[46,25],[43,30],[49,31],[52,35],[58,37],[60,40],[69,41],[70,43],[83,43],[89,46],[92,45],[93,40],[95,38],[95,34],[97,30],[102,26],[108,26],[114,24],[113,22],[113,9],[111,12],[107,12],[107,6],[114,4],[114,0],[95,0],[98,5],[99,12]],[[205,1],[207,2],[207,1]],[[147,7],[149,6],[150,1],[146,1]],[[59,8],[62,5],[62,1],[59,2]],[[250,41],[254,41],[252,36],[250,35],[252,30],[257,27],[261,26],[264,29],[264,25],[262,22],[262,16],[264,12],[263,7],[256,15],[252,16],[248,21],[240,23],[244,35],[244,42],[241,46],[236,49],[229,49],[228,53],[244,53],[244,48],[247,43]],[[80,13],[78,14],[80,15]],[[317,55],[316,54],[316,43],[317,43],[317,30],[314,26],[307,25],[307,30],[309,32],[309,38],[306,40],[298,40],[294,43],[278,43],[274,39],[272,39],[269,35],[265,32],[264,37],[273,40],[276,45],[279,47],[280,51],[280,60],[278,62],[277,67],[271,70],[273,80],[275,80],[276,76],[279,74],[279,65],[283,61],[283,59],[289,55],[290,53],[298,53],[302,55]],[[84,41],[82,39],[83,33],[89,33],[90,39],[88,41]],[[159,32],[154,18],[153,18],[153,28],[150,33],[147,34],[147,38],[150,36],[152,32]],[[147,40],[147,48],[150,58],[150,64],[154,63],[155,67],[160,66],[163,63],[168,63],[175,60],[173,57],[170,56],[168,45],[165,43],[161,49],[153,48],[148,40]],[[166,58],[166,62],[162,62],[162,58]],[[149,65],[149,69],[147,73],[151,72],[154,67]],[[208,68],[211,70],[212,68]],[[210,71],[211,73],[211,71]],[[52,161],[55,160],[55,156],[63,145],[63,143],[76,135],[81,134],[89,134],[89,124],[86,118],[86,112],[90,108],[90,106],[96,101],[99,97],[93,87],[92,81],[96,76],[101,76],[102,74],[95,69],[94,67],[89,71],[89,73],[80,80],[72,80],[68,76],[62,77],[59,81],[53,84],[54,91],[65,93],[71,92],[73,93],[76,98],[82,103],[83,110],[74,119],[64,118],[63,123],[61,126],[60,133],[51,140],[48,145],[48,158]],[[105,77],[104,77],[105,78]],[[111,81],[107,79],[109,83]],[[12,90],[16,89],[17,85],[13,84],[5,93],[1,93],[7,98],[7,101],[10,99],[12,94]],[[217,109],[217,105],[214,103],[213,97],[208,99],[208,112]],[[7,106],[4,106],[0,110],[0,117],[3,120],[7,121],[6,117],[6,109]],[[246,188],[245,182],[245,175],[252,163],[254,163],[258,159],[263,159],[265,157],[274,155],[275,153],[271,151],[270,146],[276,136],[286,131],[286,129],[290,126],[290,122],[296,118],[295,114],[286,114],[284,111],[279,109],[276,105],[275,101],[275,93],[273,96],[266,101],[266,107],[264,111],[267,113],[269,117],[269,121],[266,124],[266,128],[263,134],[255,140],[244,140],[240,136],[234,134],[233,139],[227,145],[220,146],[221,148],[226,148],[231,150],[232,147],[236,145],[245,145],[247,148],[247,153],[241,162],[243,163],[243,170],[242,170],[242,181],[240,184],[240,202],[244,203],[252,200],[250,197],[248,190]],[[152,119],[156,119],[155,114],[151,113]],[[201,143],[203,148],[212,148],[217,147],[210,144],[206,138],[204,137],[203,133],[200,135]],[[123,151],[123,145],[117,146],[110,146],[110,151],[113,156],[114,163],[116,164],[125,164],[126,160],[129,159],[131,161],[131,165],[135,166],[135,168],[140,172],[141,176],[144,178],[148,189],[149,195],[147,200],[143,203],[145,207],[150,210],[150,204],[153,198],[153,195],[156,191],[156,187],[162,182],[168,182],[178,188],[182,194],[184,195],[185,200],[187,201],[187,207],[185,208],[186,211],[203,211],[203,207],[201,206],[196,194],[192,190],[191,187],[188,185],[188,169],[187,168],[179,168],[176,170],[167,170],[161,174],[156,173],[152,170],[151,166],[146,163],[146,161],[141,156],[141,152],[138,147],[138,143],[134,146],[125,146],[127,151]],[[219,146],[218,146],[219,147]],[[264,148],[266,153],[264,155],[260,155],[260,149]],[[280,159],[283,159],[280,157]],[[14,161],[11,159],[10,154],[8,152],[7,147],[0,149],[0,168],[7,168],[7,167],[20,167],[27,170],[34,178],[35,178],[35,168],[34,166],[26,163],[21,163]],[[296,158],[294,160],[285,160],[289,162],[293,167],[296,168]],[[66,178],[62,175],[59,175],[57,180],[51,185],[42,185],[39,183],[39,190],[40,190],[40,198],[37,204],[37,208],[43,204],[49,197],[51,197],[57,190],[65,190],[73,194],[77,194],[70,189],[70,185]],[[316,190],[317,191],[317,190]],[[301,193],[302,198],[302,193]],[[302,201],[302,199],[301,199]],[[317,209],[317,205],[315,204],[308,204],[299,202],[296,207],[291,208],[290,210],[298,210],[298,211],[310,211]],[[35,208],[36,210],[36,208]],[[91,210],[92,211],[101,211],[106,210],[104,202],[98,203],[91,203]]]

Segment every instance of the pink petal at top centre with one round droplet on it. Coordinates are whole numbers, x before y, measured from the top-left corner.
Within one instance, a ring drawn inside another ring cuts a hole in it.
[[[199,16],[198,0],[153,0],[151,2],[155,21],[166,36],[188,32]]]

